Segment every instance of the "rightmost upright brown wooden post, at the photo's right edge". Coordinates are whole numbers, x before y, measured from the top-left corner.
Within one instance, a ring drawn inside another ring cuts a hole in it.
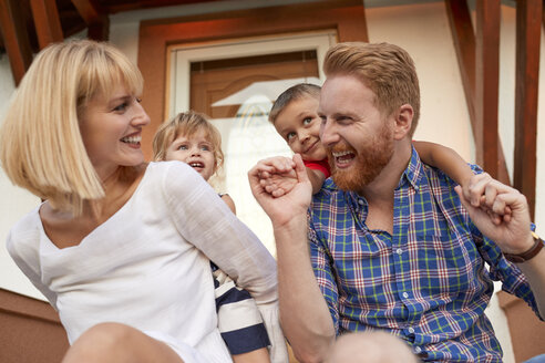
[[[516,3],[514,186],[526,196],[532,217],[535,211],[542,12],[542,0],[518,0]]]

